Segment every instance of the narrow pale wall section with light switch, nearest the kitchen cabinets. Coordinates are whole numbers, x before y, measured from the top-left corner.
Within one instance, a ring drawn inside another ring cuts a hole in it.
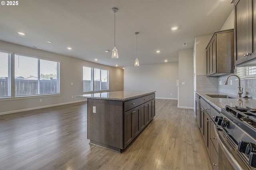
[[[193,49],[179,51],[179,108],[194,107],[193,52]]]

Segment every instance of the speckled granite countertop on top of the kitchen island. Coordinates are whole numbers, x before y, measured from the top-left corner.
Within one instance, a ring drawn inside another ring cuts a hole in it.
[[[103,93],[93,93],[93,94],[83,94],[75,96],[76,98],[88,98],[88,99],[102,99],[102,100],[119,100],[125,101],[133,98],[138,98],[140,96],[145,96],[152,94],[156,91],[117,91],[117,92],[103,92]]]

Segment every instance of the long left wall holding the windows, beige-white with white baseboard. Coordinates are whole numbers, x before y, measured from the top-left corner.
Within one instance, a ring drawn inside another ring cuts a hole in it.
[[[102,64],[75,59],[72,57],[58,55],[47,51],[24,47],[12,43],[0,41],[0,49],[24,55],[42,57],[61,61],[60,63],[60,96],[34,96],[22,98],[0,99],[0,115],[25,111],[30,109],[58,106],[61,104],[79,102],[84,99],[72,98],[72,96],[83,94],[83,66],[91,66],[109,70],[109,91],[123,90],[124,71]],[[71,85],[71,82],[73,85]],[[40,102],[42,99],[42,102]]]

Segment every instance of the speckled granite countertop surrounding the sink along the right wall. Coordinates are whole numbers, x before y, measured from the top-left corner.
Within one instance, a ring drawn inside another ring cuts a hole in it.
[[[211,104],[213,107],[215,107],[217,110],[221,111],[222,108],[225,108],[226,105],[235,107],[251,107],[253,109],[256,108],[256,100],[255,99],[245,99],[241,98],[238,99],[236,95],[218,92],[218,91],[212,91],[212,92],[200,92],[196,91],[197,94],[199,94],[206,102]],[[213,95],[228,95],[233,98],[211,98],[210,96],[207,96],[206,94],[213,94]]]

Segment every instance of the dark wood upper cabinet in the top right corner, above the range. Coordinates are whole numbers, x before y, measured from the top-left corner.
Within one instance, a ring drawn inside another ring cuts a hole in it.
[[[256,0],[233,0],[236,66],[256,66]]]

